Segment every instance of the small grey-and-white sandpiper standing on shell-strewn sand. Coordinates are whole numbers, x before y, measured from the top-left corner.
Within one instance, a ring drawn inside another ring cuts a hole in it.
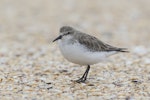
[[[118,52],[128,52],[126,48],[111,46],[70,26],[60,28],[60,34],[53,42],[57,40],[62,55],[68,61],[87,66],[83,76],[76,80],[78,83],[86,81],[90,65],[104,61]]]

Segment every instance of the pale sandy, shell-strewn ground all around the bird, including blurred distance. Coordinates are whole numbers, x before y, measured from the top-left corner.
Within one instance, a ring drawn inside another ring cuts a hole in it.
[[[149,100],[150,0],[0,0],[1,100]],[[71,25],[130,53],[86,67],[52,40]]]

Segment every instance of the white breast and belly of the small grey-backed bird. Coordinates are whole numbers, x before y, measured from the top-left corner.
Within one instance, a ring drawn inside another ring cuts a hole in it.
[[[92,65],[105,61],[108,56],[113,55],[112,52],[92,52],[80,43],[69,44],[67,38],[58,41],[62,55],[70,62],[80,65]]]

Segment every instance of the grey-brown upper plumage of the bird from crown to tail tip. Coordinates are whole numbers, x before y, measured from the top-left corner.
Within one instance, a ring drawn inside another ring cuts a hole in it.
[[[117,52],[128,52],[126,48],[118,48],[106,44],[94,36],[88,35],[86,33],[80,32],[70,26],[63,26],[60,29],[61,33],[74,35],[72,41],[78,41],[80,44],[88,48],[90,51],[93,52],[103,52],[103,51],[117,51]]]

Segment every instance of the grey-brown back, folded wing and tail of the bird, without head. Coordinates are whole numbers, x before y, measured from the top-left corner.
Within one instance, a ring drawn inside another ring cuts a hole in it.
[[[118,51],[118,52],[127,52],[125,48],[117,48],[111,45],[108,45],[94,36],[82,33],[80,31],[75,31],[74,37],[79,41],[80,44],[87,47],[90,51],[93,52],[102,52],[102,51]]]

